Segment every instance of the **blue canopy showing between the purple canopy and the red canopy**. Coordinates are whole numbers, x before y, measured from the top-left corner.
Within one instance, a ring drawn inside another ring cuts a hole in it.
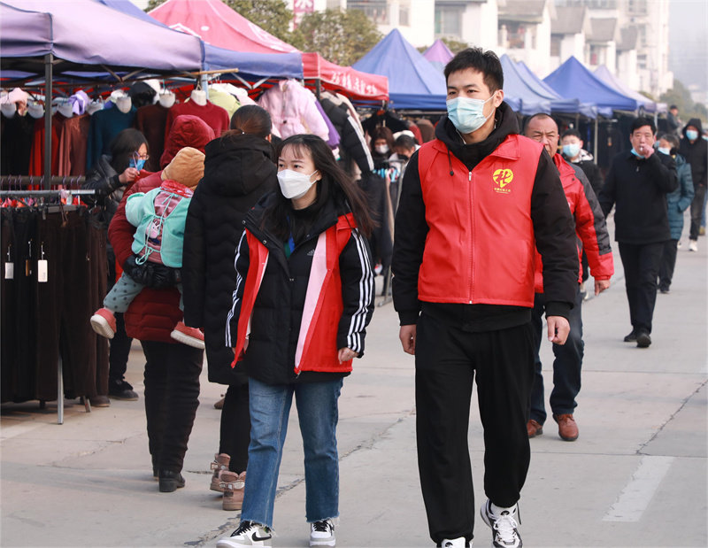
[[[97,0],[119,12],[127,13],[158,27],[170,29],[164,23],[150,17],[130,0]],[[170,29],[172,31],[172,29]],[[173,31],[177,32],[177,31]],[[183,34],[183,33],[180,33]],[[237,68],[244,80],[260,78],[303,78],[303,56],[300,53],[247,53],[225,50],[204,43],[204,70],[219,68]]]

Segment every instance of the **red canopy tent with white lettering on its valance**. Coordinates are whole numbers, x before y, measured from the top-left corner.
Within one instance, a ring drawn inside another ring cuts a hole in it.
[[[303,56],[304,80],[324,89],[338,91],[354,101],[387,101],[389,79],[377,74],[362,73],[349,66],[338,66],[318,53],[303,53],[273,35],[220,0],[167,0],[149,12],[168,27],[219,48],[253,53],[291,53]]]

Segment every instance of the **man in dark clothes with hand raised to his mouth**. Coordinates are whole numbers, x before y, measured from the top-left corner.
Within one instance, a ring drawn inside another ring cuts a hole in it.
[[[616,207],[615,240],[625,270],[632,332],[626,343],[651,344],[651,320],[657,301],[658,267],[666,240],[671,239],[666,194],[678,188],[676,163],[654,154],[654,122],[637,118],[630,127],[631,151],[612,158],[600,192],[605,217]]]

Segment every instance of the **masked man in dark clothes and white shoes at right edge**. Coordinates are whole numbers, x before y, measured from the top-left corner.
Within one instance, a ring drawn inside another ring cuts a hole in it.
[[[691,166],[695,194],[691,202],[691,229],[689,251],[698,251],[698,233],[704,210],[706,180],[708,180],[708,141],[703,137],[703,126],[698,118],[691,118],[683,128],[681,156]]]

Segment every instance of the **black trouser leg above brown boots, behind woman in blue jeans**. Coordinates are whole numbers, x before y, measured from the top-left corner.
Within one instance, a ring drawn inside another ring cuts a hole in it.
[[[250,412],[249,385],[229,385],[221,410],[219,453],[231,457],[228,469],[245,472],[249,464]]]

